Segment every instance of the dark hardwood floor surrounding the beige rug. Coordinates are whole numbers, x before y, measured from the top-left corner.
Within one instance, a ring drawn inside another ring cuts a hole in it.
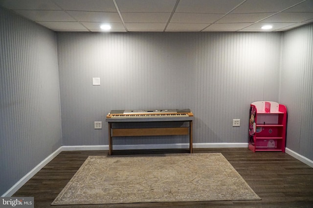
[[[113,151],[117,154],[162,154],[184,150]],[[313,208],[313,168],[283,152],[255,152],[247,148],[194,149],[194,153],[221,152],[262,200],[134,203],[110,205],[50,204],[89,155],[108,151],[63,151],[32,177],[14,196],[33,196],[36,208],[207,208],[307,207]]]

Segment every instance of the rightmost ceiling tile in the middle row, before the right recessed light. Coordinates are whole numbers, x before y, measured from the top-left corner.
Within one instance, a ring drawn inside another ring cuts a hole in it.
[[[308,19],[313,19],[313,13],[309,12],[281,12],[273,15],[263,21],[266,22],[302,22]]]

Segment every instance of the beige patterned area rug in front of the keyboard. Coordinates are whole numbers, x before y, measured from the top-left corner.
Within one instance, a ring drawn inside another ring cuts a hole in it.
[[[89,156],[52,205],[259,200],[221,153]]]

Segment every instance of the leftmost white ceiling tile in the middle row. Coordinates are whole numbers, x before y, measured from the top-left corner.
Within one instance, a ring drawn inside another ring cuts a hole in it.
[[[15,12],[33,21],[76,21],[64,11],[15,10]]]

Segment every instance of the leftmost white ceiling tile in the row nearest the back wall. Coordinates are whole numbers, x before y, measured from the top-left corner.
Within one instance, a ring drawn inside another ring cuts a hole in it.
[[[37,22],[50,28],[54,31],[88,31],[83,25],[78,22],[55,22],[55,21],[40,21]]]

